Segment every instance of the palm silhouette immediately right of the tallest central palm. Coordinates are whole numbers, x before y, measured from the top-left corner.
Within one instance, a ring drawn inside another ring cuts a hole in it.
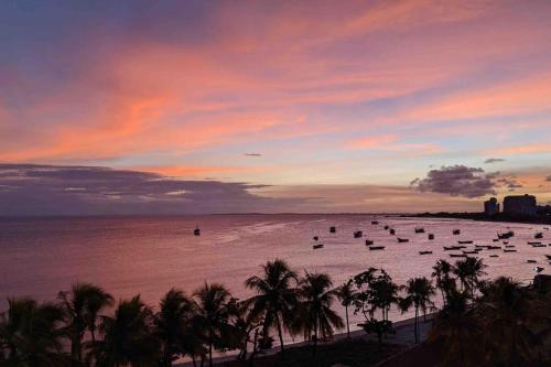
[[[333,336],[333,328],[343,328],[343,319],[332,310],[336,292],[328,274],[310,273],[299,282],[299,315],[295,325],[304,332],[304,338],[313,339],[315,357],[317,341]]]

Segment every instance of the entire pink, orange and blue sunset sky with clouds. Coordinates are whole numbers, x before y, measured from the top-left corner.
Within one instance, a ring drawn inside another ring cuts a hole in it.
[[[551,203],[551,1],[2,1],[0,215]]]

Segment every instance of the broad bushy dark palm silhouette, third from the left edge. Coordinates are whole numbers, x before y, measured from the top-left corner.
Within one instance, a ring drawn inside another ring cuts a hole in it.
[[[98,367],[153,366],[160,358],[153,312],[139,295],[120,301],[114,316],[101,316],[99,333],[102,339],[93,344],[90,354]]]

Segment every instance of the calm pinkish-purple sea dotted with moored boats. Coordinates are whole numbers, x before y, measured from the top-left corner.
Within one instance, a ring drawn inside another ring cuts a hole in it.
[[[8,296],[52,300],[75,281],[100,284],[117,299],[140,293],[152,305],[172,287],[192,293],[205,281],[222,282],[235,295],[246,298],[245,279],[274,258],[288,260],[300,271],[327,272],[335,285],[368,267],[385,268],[395,281],[403,283],[410,277],[429,277],[440,258],[455,260],[442,246],[457,245],[458,239],[496,245],[491,238],[508,227],[516,233],[510,245],[518,252],[482,251],[488,277],[504,274],[528,282],[534,276],[534,265],[527,263],[528,259],[550,273],[544,255],[551,248],[527,245],[536,231],[544,233],[544,244],[551,242],[551,231],[543,226],[383,216],[374,226],[372,219],[360,215],[2,219],[0,310]],[[193,236],[196,225],[202,236]],[[397,236],[410,242],[398,244],[383,225],[396,228]],[[337,233],[329,234],[329,226],[336,226]],[[414,234],[417,226],[434,233],[436,239],[429,241],[426,234]],[[454,228],[461,228],[461,236],[452,235]],[[365,238],[353,238],[357,229],[364,230]],[[325,245],[323,249],[312,249],[315,235]],[[369,251],[366,238],[386,249]],[[420,250],[433,253],[420,256]],[[489,258],[490,253],[499,257]],[[408,316],[391,314],[393,320]]]

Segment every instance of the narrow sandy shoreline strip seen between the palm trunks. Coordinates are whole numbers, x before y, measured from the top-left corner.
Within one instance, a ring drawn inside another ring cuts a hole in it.
[[[425,338],[426,333],[429,331],[429,327],[431,325],[431,321],[434,317],[435,313],[430,313],[426,314],[426,322],[423,321],[423,316],[419,316],[419,325],[421,328],[421,342]],[[412,327],[414,324],[415,317],[410,317],[410,319],[404,319],[397,321],[396,323],[392,323],[392,327],[396,331],[395,335],[388,335],[386,339],[383,339],[383,344],[397,344],[397,345],[403,345],[406,348],[410,348],[411,346],[415,345],[413,342],[412,337]],[[317,345],[318,346],[324,346],[324,345],[331,345],[334,343],[338,343],[342,341],[345,341],[347,337],[347,333],[336,333],[333,335],[333,338],[326,342],[320,342]],[[377,337],[374,335],[367,334],[363,330],[355,330],[350,331],[350,339],[359,339],[359,338],[366,338],[370,341],[376,341]],[[411,338],[411,341],[409,341]],[[309,345],[307,341],[302,341],[302,342],[296,342],[296,343],[290,343],[285,345],[285,350],[291,349],[291,348],[300,348],[300,347],[305,347]],[[267,356],[272,356],[278,354],[281,350],[279,346],[274,346],[270,349],[264,349],[262,353],[258,354],[255,357],[255,360],[261,359],[262,357]],[[225,356],[219,356],[213,358],[213,365],[219,365],[228,361],[236,360],[237,354],[235,355],[225,355]],[[193,367],[193,361],[182,361],[174,364],[174,367]]]

